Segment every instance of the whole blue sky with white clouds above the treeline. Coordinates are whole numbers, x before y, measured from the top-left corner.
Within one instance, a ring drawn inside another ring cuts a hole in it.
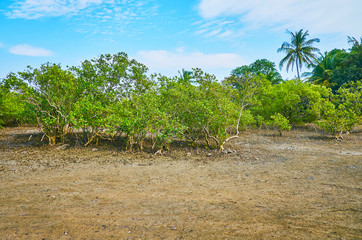
[[[361,9],[361,0],[1,0],[0,78],[126,52],[149,73],[200,67],[223,79],[257,59],[278,65],[286,29],[309,30],[322,52],[348,49],[347,36],[362,35]]]

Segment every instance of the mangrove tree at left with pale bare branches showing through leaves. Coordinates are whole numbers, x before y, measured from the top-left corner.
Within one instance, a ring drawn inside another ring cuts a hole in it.
[[[77,80],[69,70],[63,70],[57,64],[43,64],[39,69],[28,67],[19,72],[23,83],[22,93],[32,105],[38,124],[48,137],[49,144],[55,145],[56,139],[64,142],[70,130],[70,112],[77,98]]]

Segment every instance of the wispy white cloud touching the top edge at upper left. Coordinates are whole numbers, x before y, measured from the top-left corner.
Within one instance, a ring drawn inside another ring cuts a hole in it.
[[[15,1],[7,13],[10,18],[37,19],[41,17],[57,17],[74,14],[91,4],[102,3],[102,0],[23,0]]]

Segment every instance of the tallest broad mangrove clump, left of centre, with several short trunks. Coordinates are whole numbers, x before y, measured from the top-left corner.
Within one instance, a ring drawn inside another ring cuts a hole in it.
[[[143,149],[151,135],[153,148],[167,149],[183,132],[177,116],[161,106],[157,83],[146,76],[147,68],[127,54],[101,55],[73,70],[82,97],[75,104],[72,122],[86,132],[86,144],[105,134],[111,138],[125,134],[132,151],[134,146]]]

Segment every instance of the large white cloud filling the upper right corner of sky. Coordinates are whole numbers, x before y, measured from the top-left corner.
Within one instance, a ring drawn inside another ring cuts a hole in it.
[[[202,0],[205,19],[238,17],[245,29],[300,28],[312,33],[361,34],[361,0]]]

